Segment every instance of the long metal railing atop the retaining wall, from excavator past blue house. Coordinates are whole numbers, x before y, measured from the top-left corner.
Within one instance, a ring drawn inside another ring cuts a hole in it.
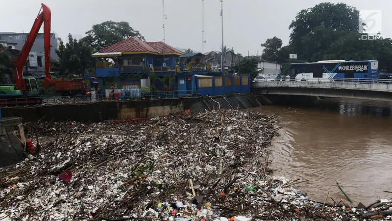
[[[122,94],[119,92],[109,94],[90,94],[76,96],[51,96],[51,97],[21,97],[0,99],[0,107],[8,106],[29,106],[42,100],[42,105],[51,104],[83,104],[93,102],[113,102],[113,101],[131,101],[147,99],[164,99],[201,96],[201,90],[173,90],[173,91],[152,91],[138,92],[132,94]]]

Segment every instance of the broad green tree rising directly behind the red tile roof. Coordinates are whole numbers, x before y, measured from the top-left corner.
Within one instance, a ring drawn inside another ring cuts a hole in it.
[[[130,27],[128,22],[106,21],[94,25],[86,34],[83,41],[96,49],[107,47],[129,37],[146,40],[138,30]]]

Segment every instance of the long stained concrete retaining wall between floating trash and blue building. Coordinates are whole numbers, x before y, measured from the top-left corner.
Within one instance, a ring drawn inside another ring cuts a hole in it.
[[[232,94],[213,97],[221,108],[251,108],[260,103],[250,94]],[[226,101],[227,100],[227,101]],[[229,105],[230,104],[230,105]],[[244,105],[245,104],[245,105]],[[134,118],[155,117],[168,112],[184,110],[199,112],[216,110],[218,104],[209,97],[162,98],[153,100],[98,102],[88,104],[47,105],[26,108],[2,108],[2,115],[21,117],[25,122],[46,121],[78,121],[100,122],[104,120],[129,120]]]

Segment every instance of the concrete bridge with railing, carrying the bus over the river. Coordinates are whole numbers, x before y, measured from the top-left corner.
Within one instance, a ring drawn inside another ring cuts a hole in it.
[[[259,80],[251,83],[251,92],[260,95],[299,95],[355,98],[392,102],[392,80],[340,78],[286,78],[285,81]]]

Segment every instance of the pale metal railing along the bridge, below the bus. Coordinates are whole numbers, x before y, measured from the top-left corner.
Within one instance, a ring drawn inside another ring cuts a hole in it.
[[[254,79],[252,82],[392,83],[392,79],[366,79],[366,78],[281,78],[281,79]]]

